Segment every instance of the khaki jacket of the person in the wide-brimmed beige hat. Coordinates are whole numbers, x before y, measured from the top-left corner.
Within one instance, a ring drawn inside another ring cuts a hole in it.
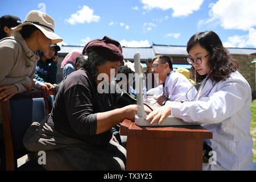
[[[38,53],[28,48],[20,32],[0,40],[0,86],[14,84],[18,93],[27,91],[38,60]]]

